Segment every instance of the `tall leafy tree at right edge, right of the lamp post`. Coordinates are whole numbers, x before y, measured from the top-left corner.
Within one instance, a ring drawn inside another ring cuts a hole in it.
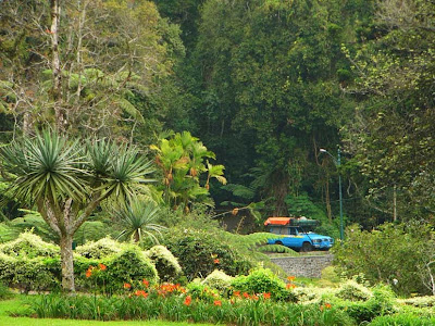
[[[369,180],[364,195],[387,218],[393,198],[402,220],[430,217],[434,205],[427,189],[434,180],[434,10],[432,1],[382,1],[375,37],[344,48],[359,103],[343,135]]]

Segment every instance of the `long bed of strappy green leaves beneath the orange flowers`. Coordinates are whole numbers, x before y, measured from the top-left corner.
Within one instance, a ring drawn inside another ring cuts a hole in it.
[[[189,321],[225,325],[307,325],[307,326],[350,326],[355,325],[344,311],[331,309],[321,311],[319,305],[276,303],[271,300],[191,301],[184,304],[185,297],[102,297],[102,296],[34,296],[28,299],[27,312],[44,318],[71,318],[97,321],[161,319]],[[74,309],[71,309],[71,308]]]

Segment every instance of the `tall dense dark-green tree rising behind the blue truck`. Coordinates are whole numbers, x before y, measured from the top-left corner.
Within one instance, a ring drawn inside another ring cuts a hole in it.
[[[351,76],[338,45],[358,42],[356,27],[371,9],[356,1],[203,4],[195,48],[203,105],[194,120],[227,162],[232,184],[245,187],[238,195],[251,190],[275,214],[287,214],[287,195],[307,191],[321,202],[336,172],[315,160],[318,149],[339,142],[353,108],[340,90]]]

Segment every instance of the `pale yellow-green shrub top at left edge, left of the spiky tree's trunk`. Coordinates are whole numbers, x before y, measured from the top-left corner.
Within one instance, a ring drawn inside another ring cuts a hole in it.
[[[25,231],[17,239],[0,244],[0,252],[11,256],[54,256],[60,254],[59,246],[42,241],[42,239],[30,231]]]

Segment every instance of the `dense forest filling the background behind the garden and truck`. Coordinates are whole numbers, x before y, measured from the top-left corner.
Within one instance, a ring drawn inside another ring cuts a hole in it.
[[[135,145],[144,198],[258,226],[337,237],[338,176],[346,225],[433,222],[434,55],[432,0],[0,1],[0,140]]]

